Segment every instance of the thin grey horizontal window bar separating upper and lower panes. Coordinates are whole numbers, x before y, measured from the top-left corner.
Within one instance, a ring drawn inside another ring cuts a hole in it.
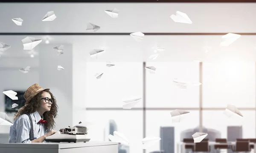
[[[191,111],[199,111],[200,108],[145,108],[147,111],[172,111],[172,110],[191,110]],[[226,108],[201,108],[203,111],[224,111]],[[237,108],[241,110],[247,111],[256,111],[256,108]],[[88,111],[143,111],[143,108],[132,108],[132,109],[123,109],[123,108],[86,108]]]

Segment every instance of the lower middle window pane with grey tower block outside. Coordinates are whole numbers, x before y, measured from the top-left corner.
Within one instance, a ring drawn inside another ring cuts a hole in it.
[[[175,153],[177,153],[177,142],[180,142],[180,134],[184,130],[194,129],[199,126],[199,111],[189,111],[190,113],[184,116],[180,123],[172,123],[170,111],[146,111],[146,136],[160,137],[161,127],[174,127],[175,132],[171,133],[175,135],[174,147]],[[146,153],[150,153],[155,150],[160,150],[161,139],[159,143],[153,145],[146,150]],[[172,143],[170,144],[172,145]],[[167,150],[170,151],[170,150]]]

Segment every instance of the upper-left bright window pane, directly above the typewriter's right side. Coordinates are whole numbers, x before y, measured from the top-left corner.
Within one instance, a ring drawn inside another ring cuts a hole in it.
[[[86,107],[122,108],[122,99],[132,96],[143,98],[143,71],[141,62],[115,62],[107,67],[106,62],[87,62]],[[94,76],[104,72],[100,79]],[[139,102],[134,108],[141,108]]]

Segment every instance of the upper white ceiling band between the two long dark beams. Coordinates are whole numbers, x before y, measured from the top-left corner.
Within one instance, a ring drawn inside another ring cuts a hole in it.
[[[100,33],[256,32],[256,3],[1,3],[0,32],[91,32],[87,23],[100,26]],[[111,18],[106,9],[119,9]],[[43,22],[48,11],[57,18]],[[175,23],[170,16],[186,13],[192,24]],[[12,18],[23,19],[17,26]]]

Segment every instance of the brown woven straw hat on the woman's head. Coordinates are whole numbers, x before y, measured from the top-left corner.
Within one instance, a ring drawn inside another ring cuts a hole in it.
[[[36,96],[41,91],[47,90],[49,88],[42,88],[38,84],[31,85],[25,92],[24,98],[26,99],[26,103],[28,103],[34,96]]]

